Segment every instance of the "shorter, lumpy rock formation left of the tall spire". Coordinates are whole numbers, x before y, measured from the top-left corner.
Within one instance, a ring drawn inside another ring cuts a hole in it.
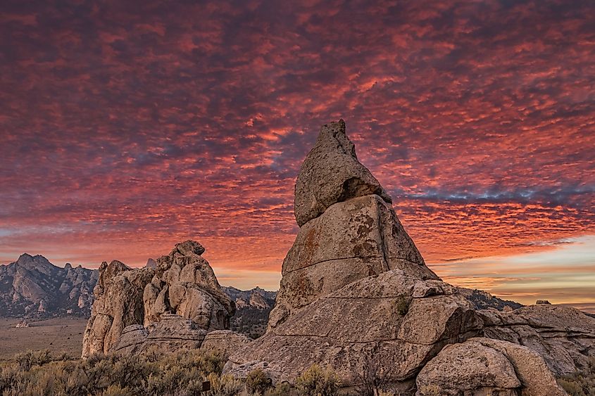
[[[199,243],[186,241],[154,268],[101,264],[82,357],[198,348],[209,331],[229,328],[234,303],[203,252]]]

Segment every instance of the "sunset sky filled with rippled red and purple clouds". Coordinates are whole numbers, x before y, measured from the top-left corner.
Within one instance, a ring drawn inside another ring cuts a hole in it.
[[[276,289],[343,118],[445,281],[595,309],[595,4],[0,5],[0,263],[142,266],[192,238]]]

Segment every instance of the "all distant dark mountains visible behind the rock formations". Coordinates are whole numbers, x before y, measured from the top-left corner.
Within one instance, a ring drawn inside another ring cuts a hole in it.
[[[153,260],[147,262],[148,266]],[[65,315],[87,317],[93,304],[93,288],[99,278],[94,269],[81,266],[56,267],[41,255],[21,255],[17,261],[0,265],[0,317],[46,318]],[[512,309],[518,302],[501,300],[482,290],[459,288],[477,309]],[[236,303],[231,328],[252,338],[266,331],[268,315],[277,292],[262,288],[239,290],[224,286]]]

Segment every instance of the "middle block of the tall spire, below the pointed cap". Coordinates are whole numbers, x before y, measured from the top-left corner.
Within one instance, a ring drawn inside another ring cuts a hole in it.
[[[382,198],[368,195],[336,203],[299,230],[283,262],[271,317],[286,317],[292,309],[390,269],[414,279],[438,279]]]

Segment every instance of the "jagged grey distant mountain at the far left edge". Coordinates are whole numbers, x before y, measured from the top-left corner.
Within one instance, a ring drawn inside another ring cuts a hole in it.
[[[0,316],[88,316],[97,276],[92,269],[61,268],[41,255],[21,255],[0,265]]]

